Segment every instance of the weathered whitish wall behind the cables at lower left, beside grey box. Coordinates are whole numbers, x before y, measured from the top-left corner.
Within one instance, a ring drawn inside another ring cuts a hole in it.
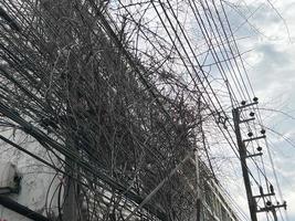
[[[9,131],[1,133],[1,135],[8,135],[7,137],[10,135],[10,139],[14,143],[50,161],[46,150],[22,133],[18,133],[14,138]],[[56,164],[53,156],[52,158]],[[20,192],[7,194],[9,198],[45,217],[49,213],[57,214],[59,191],[56,188],[62,181],[61,175],[56,175],[53,169],[2,140],[0,140],[0,164],[1,161],[14,164],[22,176]],[[0,207],[0,218],[7,221],[29,220],[2,206]]]

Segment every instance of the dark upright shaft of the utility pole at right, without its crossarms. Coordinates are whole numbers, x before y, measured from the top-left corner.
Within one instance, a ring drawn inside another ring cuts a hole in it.
[[[242,172],[243,172],[243,178],[244,178],[244,186],[245,186],[245,190],[246,190],[246,198],[247,198],[247,203],[249,203],[251,221],[257,221],[256,201],[253,198],[249,171],[247,171],[247,166],[246,166],[246,148],[245,148],[245,145],[243,143],[242,135],[241,135],[241,128],[240,128],[240,123],[241,123],[240,108],[239,107],[234,108],[232,110],[232,115],[233,115],[233,122],[234,122],[234,131],[235,131],[236,141],[238,141],[238,146],[239,146],[239,155],[240,155],[241,167],[242,167]]]

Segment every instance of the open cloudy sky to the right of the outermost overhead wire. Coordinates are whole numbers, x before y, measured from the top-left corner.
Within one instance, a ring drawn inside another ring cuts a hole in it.
[[[239,41],[239,46],[247,52],[244,61],[260,98],[263,122],[270,128],[270,151],[292,221],[295,220],[295,0],[239,2],[249,23],[239,27],[243,23],[240,18],[233,25],[239,28],[238,36],[246,36]],[[239,15],[233,12],[232,17]],[[239,200],[246,207],[242,198]]]

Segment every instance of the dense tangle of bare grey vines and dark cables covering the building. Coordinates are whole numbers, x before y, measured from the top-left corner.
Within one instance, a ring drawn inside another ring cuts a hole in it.
[[[186,2],[171,7],[181,14]],[[59,161],[31,154],[66,177],[67,185],[56,189],[60,219],[71,188],[81,219],[194,215],[198,183],[191,159],[202,147],[209,107],[196,90],[201,78],[179,64],[177,45],[148,14],[152,4],[0,4],[1,126],[30,135]]]

